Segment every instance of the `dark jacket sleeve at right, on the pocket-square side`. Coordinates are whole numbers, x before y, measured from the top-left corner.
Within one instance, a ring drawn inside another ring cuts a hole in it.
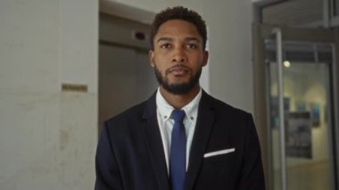
[[[244,135],[246,139],[239,190],[264,190],[265,179],[261,163],[260,143],[252,115],[248,117],[247,131]]]

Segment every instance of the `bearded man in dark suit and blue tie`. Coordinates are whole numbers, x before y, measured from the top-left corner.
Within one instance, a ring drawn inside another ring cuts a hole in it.
[[[95,190],[265,189],[251,114],[199,85],[206,36],[194,11],[173,7],[156,15],[149,56],[159,88],[104,123]]]

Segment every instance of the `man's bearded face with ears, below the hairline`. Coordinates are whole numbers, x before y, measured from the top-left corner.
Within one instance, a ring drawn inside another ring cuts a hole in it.
[[[203,50],[203,38],[187,21],[164,22],[153,39],[149,56],[161,87],[175,95],[188,93],[199,85],[208,53]]]

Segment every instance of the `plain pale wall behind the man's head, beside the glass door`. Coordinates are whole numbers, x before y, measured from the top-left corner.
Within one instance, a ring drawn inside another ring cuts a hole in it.
[[[248,0],[106,0],[159,12],[184,5],[202,14],[209,29],[210,92],[220,100],[253,112],[252,8]]]

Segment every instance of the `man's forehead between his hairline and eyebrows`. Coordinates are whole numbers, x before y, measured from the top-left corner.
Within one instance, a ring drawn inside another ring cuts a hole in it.
[[[202,38],[194,24],[182,20],[170,20],[161,24],[154,39],[159,37],[198,37]]]

